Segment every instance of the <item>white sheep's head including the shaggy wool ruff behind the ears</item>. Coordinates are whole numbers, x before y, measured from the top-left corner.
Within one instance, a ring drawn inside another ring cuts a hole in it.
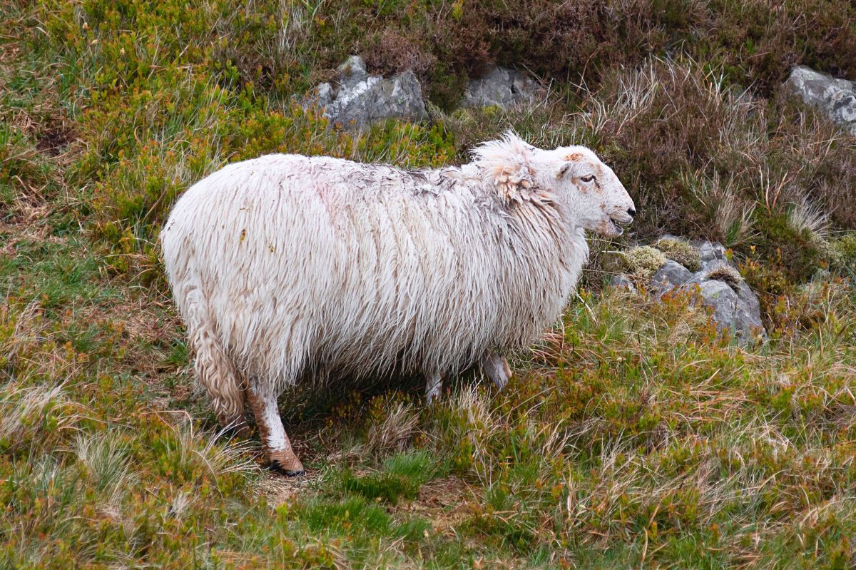
[[[507,205],[549,199],[574,223],[605,236],[621,235],[633,222],[633,199],[615,172],[585,146],[544,151],[507,133],[475,151],[476,162]]]

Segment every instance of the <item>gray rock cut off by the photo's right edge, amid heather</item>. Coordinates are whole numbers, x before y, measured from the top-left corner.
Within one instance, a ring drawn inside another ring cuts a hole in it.
[[[856,88],[851,81],[798,65],[785,85],[805,104],[825,110],[834,122],[856,134]]]

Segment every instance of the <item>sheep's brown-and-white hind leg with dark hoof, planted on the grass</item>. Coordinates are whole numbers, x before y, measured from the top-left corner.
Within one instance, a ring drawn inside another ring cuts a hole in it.
[[[255,386],[251,381],[247,389],[247,400],[253,408],[256,425],[259,426],[259,438],[270,461],[270,469],[288,477],[302,475],[305,472],[303,464],[294,454],[285,428],[282,427],[282,419],[276,407],[276,396],[272,390]]]

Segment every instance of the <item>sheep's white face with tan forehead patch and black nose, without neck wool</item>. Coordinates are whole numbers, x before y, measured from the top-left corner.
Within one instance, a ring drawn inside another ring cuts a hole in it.
[[[615,172],[585,146],[563,146],[550,154],[556,200],[584,228],[607,237],[623,234],[621,226],[633,222],[636,208]]]

